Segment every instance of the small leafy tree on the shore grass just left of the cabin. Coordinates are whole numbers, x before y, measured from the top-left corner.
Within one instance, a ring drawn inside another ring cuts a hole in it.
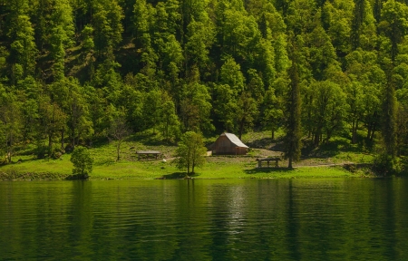
[[[187,168],[187,176],[194,173],[195,167],[202,166],[206,160],[204,158],[207,152],[202,140],[202,135],[193,131],[187,131],[181,136],[179,147],[176,150],[176,159],[174,162],[179,169]],[[189,172],[191,169],[191,172]]]

